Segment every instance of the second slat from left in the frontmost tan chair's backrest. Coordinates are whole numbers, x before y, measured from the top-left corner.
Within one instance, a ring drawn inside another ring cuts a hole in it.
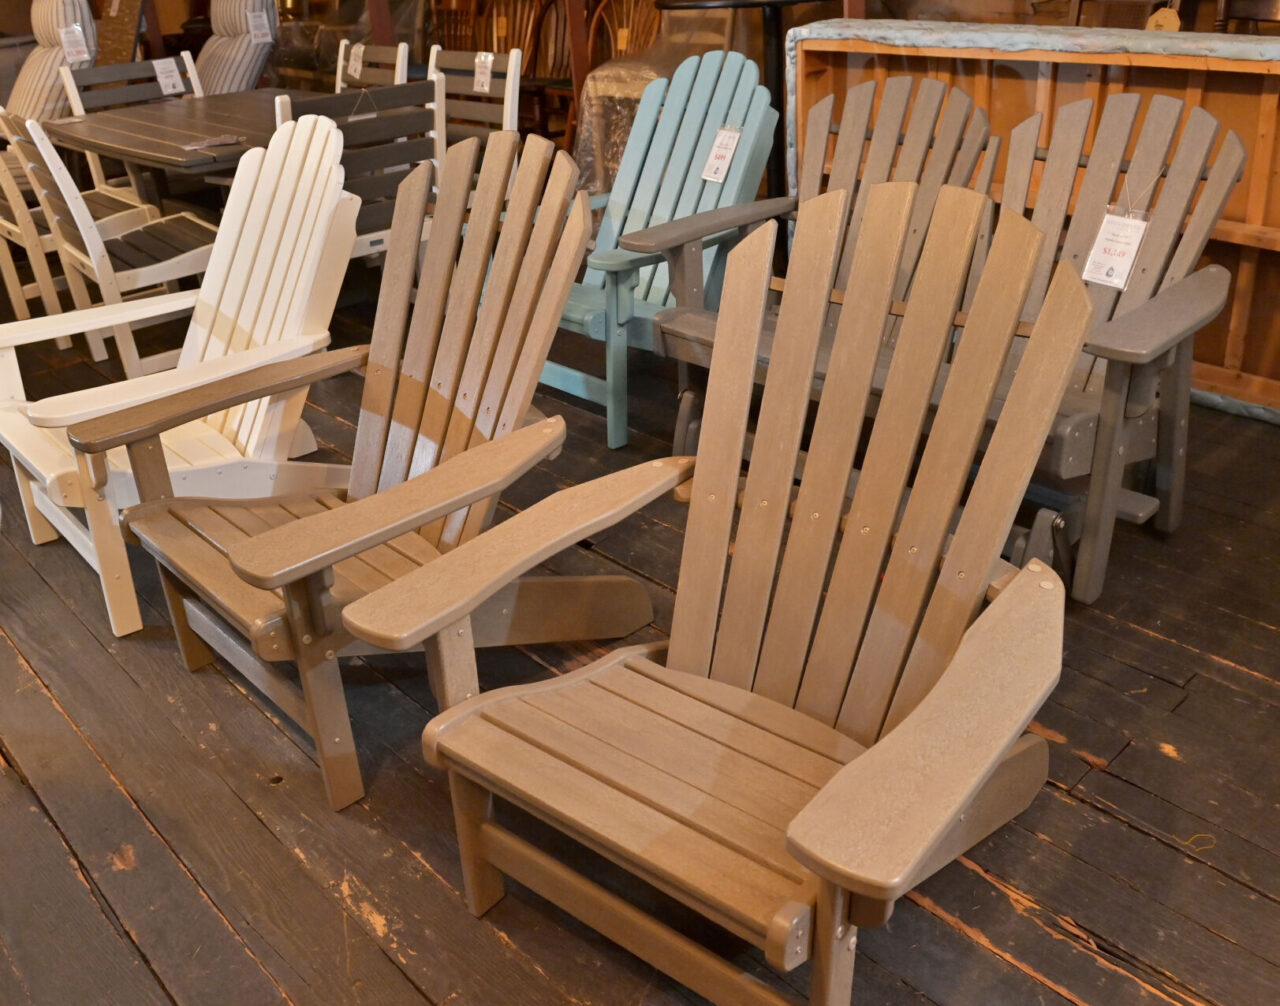
[[[828,192],[800,206],[792,247],[794,278],[778,315],[787,352],[769,362],[760,402],[758,436],[746,477],[737,544],[724,587],[724,616],[712,658],[712,677],[750,689],[764,635],[772,571],[777,566],[791,499],[796,456],[813,387],[827,296],[844,238],[844,192]],[[822,220],[819,225],[814,220]]]

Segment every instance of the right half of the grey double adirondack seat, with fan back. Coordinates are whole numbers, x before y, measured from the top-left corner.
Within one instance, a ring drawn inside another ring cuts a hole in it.
[[[1033,484],[1032,498],[1061,512],[1059,544],[1079,541],[1069,579],[1071,596],[1085,603],[1102,593],[1117,517],[1153,520],[1161,531],[1181,521],[1192,343],[1230,287],[1221,266],[1193,270],[1244,165],[1239,137],[1228,131],[1219,142],[1219,123],[1203,109],[1156,95],[1135,128],[1140,105],[1137,93],[1110,96],[1087,155],[1092,101],[1059,109],[1047,150],[1038,146],[1041,116],[1030,116],[1010,134],[1001,200],[1001,215],[1029,214],[1046,233],[1027,317],[1055,261],[1083,270],[1110,204],[1149,212],[1128,288],[1089,284],[1093,330]],[[1032,548],[1051,554],[1046,541]]]

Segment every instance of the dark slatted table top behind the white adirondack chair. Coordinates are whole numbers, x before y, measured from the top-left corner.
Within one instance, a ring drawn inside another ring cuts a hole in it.
[[[61,147],[99,154],[145,168],[205,174],[230,170],[251,147],[265,147],[275,132],[276,95],[308,96],[310,91],[261,88],[232,95],[169,99],[108,109],[45,123]],[[234,143],[188,148],[220,136]]]

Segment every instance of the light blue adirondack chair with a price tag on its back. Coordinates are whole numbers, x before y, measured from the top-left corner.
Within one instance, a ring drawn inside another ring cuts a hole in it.
[[[658,255],[618,247],[618,237],[755,197],[778,113],[740,52],[690,56],[671,81],[653,81],[640,97],[604,219],[582,282],[573,284],[561,328],[604,342],[605,378],[548,362],[543,384],[605,407],[609,447],[627,442],[627,347],[653,349],[653,316],[668,302],[667,265]],[[716,134],[739,129],[723,182],[703,180]],[[704,252],[708,307],[719,302],[723,252]]]

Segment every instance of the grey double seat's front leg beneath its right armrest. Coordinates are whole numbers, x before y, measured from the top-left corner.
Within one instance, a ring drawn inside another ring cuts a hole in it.
[[[1075,559],[1075,579],[1071,581],[1071,596],[1085,604],[1092,604],[1102,594],[1107,557],[1111,554],[1116,507],[1126,463],[1124,412],[1130,370],[1129,363],[1108,361],[1106,384],[1102,388],[1089,494],[1084,503],[1084,527]]]

